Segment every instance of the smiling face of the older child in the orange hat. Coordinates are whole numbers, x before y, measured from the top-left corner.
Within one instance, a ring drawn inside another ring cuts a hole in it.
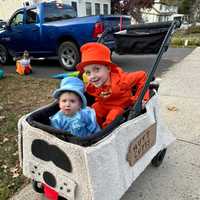
[[[84,67],[88,81],[95,87],[101,87],[110,80],[110,69],[105,65],[92,64]]]

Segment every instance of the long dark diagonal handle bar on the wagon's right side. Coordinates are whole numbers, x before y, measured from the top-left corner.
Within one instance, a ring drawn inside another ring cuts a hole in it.
[[[169,30],[168,30],[168,32],[167,32],[167,34],[166,34],[166,36],[165,36],[165,38],[164,38],[164,40],[162,42],[162,45],[161,45],[161,47],[159,49],[157,57],[156,57],[156,59],[154,61],[154,64],[152,66],[152,69],[151,69],[150,73],[148,74],[148,77],[147,77],[146,83],[145,83],[145,85],[144,85],[144,87],[142,89],[142,92],[140,93],[136,103],[134,104],[134,106],[130,110],[130,113],[129,113],[129,116],[128,116],[128,120],[133,119],[133,118],[137,117],[138,115],[140,115],[140,113],[142,111],[142,100],[144,98],[144,95],[145,95],[147,89],[149,88],[150,82],[151,82],[151,80],[152,80],[152,78],[153,78],[153,76],[155,74],[155,71],[156,71],[156,69],[158,67],[158,64],[159,64],[159,62],[160,62],[160,60],[162,58],[162,55],[163,55],[164,50],[165,50],[165,47],[167,47],[168,44],[169,44],[170,36],[171,36],[173,30],[175,28],[177,28],[177,27],[180,27],[180,22],[178,20],[172,21],[171,26],[170,26],[170,28],[169,28]]]

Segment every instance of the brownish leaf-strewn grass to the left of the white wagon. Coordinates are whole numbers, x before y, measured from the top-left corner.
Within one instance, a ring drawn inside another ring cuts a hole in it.
[[[0,200],[9,199],[29,180],[18,159],[17,122],[21,116],[53,101],[58,81],[7,74],[0,79]]]

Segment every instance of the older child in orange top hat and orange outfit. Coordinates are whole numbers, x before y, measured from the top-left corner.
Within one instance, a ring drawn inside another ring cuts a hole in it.
[[[91,42],[81,47],[82,58],[77,69],[87,75],[86,91],[95,97],[98,123],[105,128],[137,100],[147,75],[144,71],[126,73],[111,62],[110,49],[103,44]],[[132,88],[137,90],[134,96]],[[145,95],[148,99],[148,94]]]

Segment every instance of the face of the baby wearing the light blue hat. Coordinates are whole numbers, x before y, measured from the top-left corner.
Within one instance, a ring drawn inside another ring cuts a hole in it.
[[[72,116],[81,109],[81,99],[73,92],[65,92],[59,98],[59,107],[67,116]]]

